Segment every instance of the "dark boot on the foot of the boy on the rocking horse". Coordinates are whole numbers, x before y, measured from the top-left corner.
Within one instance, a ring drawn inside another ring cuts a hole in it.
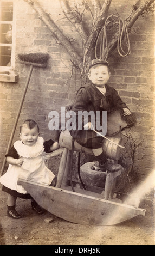
[[[120,164],[109,163],[104,153],[101,153],[101,155],[96,156],[96,160],[99,162],[99,167],[102,172],[106,172],[107,170],[109,172],[117,172],[118,170],[121,169]]]

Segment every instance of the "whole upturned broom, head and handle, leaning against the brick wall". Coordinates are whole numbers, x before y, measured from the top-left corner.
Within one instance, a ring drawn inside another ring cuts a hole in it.
[[[14,124],[13,130],[11,132],[11,136],[10,136],[10,139],[9,139],[9,144],[8,144],[6,154],[8,154],[8,152],[9,152],[9,149],[11,147],[11,144],[12,144],[12,141],[13,141],[13,138],[14,138],[14,135],[15,135],[18,119],[20,117],[23,102],[24,102],[25,95],[27,93],[28,85],[29,85],[29,82],[30,82],[30,77],[31,77],[31,74],[33,72],[33,68],[34,68],[34,66],[37,66],[37,67],[40,67],[40,68],[45,68],[47,66],[49,54],[48,53],[23,53],[23,54],[18,54],[18,58],[20,60],[20,63],[25,64],[25,65],[30,65],[30,70],[29,70],[27,82],[25,84],[24,93],[23,93],[23,96],[22,96],[22,99],[21,99],[20,107],[19,107],[18,112],[17,112],[15,124]],[[4,158],[4,161],[3,161],[3,166],[2,166],[2,169],[1,169],[1,172],[0,172],[0,176],[3,175],[5,164],[6,164],[6,157]]]

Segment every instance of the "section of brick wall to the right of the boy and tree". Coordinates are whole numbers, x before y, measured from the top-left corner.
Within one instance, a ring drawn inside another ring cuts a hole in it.
[[[131,129],[133,140],[143,141],[135,154],[135,168],[146,174],[154,168],[154,31],[148,15],[135,22],[130,33],[131,54],[109,61],[112,64],[110,84],[137,115],[137,126]],[[127,131],[128,132],[128,131]]]

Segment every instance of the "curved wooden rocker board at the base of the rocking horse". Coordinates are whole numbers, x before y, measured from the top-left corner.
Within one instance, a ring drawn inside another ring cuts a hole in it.
[[[145,216],[145,210],[105,200],[99,193],[78,188],[78,192],[63,188],[45,186],[23,179],[18,180],[28,193],[45,210],[66,221],[83,225],[114,225],[135,216]],[[89,193],[89,194],[88,194]],[[91,195],[90,195],[91,194]]]

